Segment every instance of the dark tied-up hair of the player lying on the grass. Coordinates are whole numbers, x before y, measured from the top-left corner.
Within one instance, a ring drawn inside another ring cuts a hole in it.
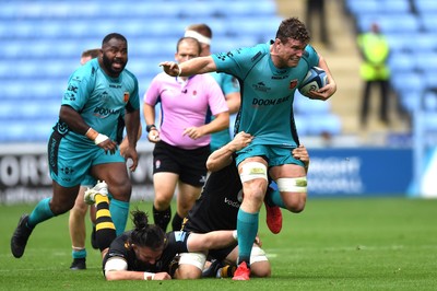
[[[137,209],[131,211],[131,216],[135,228],[130,235],[130,243],[154,251],[163,249],[166,244],[164,231],[155,224],[149,224],[147,213],[144,211]]]

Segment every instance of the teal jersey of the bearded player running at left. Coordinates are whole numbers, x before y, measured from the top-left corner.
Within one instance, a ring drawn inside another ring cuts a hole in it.
[[[138,80],[127,69],[118,78],[110,78],[98,60],[93,59],[71,74],[62,105],[71,106],[88,126],[116,140],[119,117],[125,116],[125,108],[140,108]],[[94,144],[73,131],[69,131],[66,139]]]

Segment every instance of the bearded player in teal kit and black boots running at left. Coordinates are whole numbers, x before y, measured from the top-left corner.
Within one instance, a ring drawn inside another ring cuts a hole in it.
[[[116,229],[125,230],[132,186],[125,158],[138,165],[137,135],[140,127],[138,80],[125,69],[128,42],[111,33],[103,39],[102,55],[70,77],[59,121],[48,142],[52,197],[43,199],[31,214],[23,214],[12,238],[11,252],[20,258],[33,229],[70,210],[87,174],[106,181],[113,195],[110,211]],[[129,146],[121,156],[116,138],[125,114]]]

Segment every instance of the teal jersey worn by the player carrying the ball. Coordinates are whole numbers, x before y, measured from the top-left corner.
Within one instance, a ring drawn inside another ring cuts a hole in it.
[[[295,90],[319,57],[308,45],[294,68],[275,68],[270,43],[212,55],[218,72],[235,75],[241,86],[241,106],[235,132],[246,131],[252,144],[296,147],[297,132],[293,118]]]

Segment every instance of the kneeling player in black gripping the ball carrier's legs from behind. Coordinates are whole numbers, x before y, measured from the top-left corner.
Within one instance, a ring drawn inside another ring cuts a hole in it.
[[[184,231],[208,233],[215,230],[235,230],[238,209],[243,200],[243,186],[234,156],[236,151],[247,147],[252,139],[251,135],[241,131],[235,136],[234,140],[209,156],[206,167],[211,171],[211,175],[206,181],[202,195],[188,213],[184,223]],[[304,162],[307,168],[309,156],[304,146],[295,148],[293,156]],[[264,202],[269,210],[268,226],[269,229],[277,230],[282,226],[281,210],[275,209],[276,213],[274,214],[280,221],[273,220],[271,218],[273,208],[268,206],[273,193],[274,190],[269,187]],[[274,223],[276,225],[272,225]],[[221,249],[211,249],[209,253],[184,253],[180,254],[176,276],[185,279],[200,278],[205,259],[209,257],[214,259],[214,263],[203,272],[204,277],[233,277],[237,256],[236,242]],[[259,243],[252,245],[250,275],[253,277],[269,277],[271,275],[270,263]]]

